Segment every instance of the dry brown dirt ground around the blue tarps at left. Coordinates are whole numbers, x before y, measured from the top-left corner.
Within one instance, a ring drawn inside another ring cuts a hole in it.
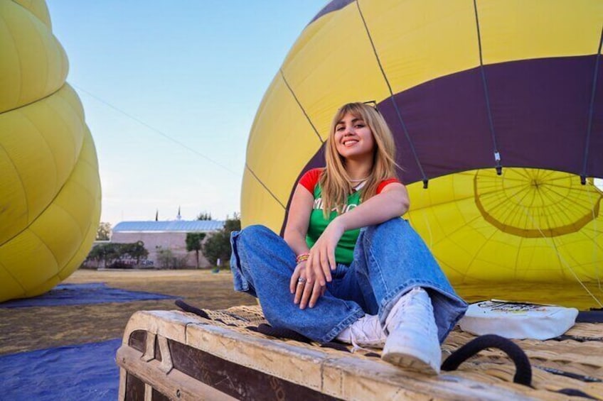
[[[181,297],[188,304],[224,309],[255,304],[233,291],[233,276],[208,270],[78,270],[65,282],[105,282],[124,290]],[[0,308],[0,355],[120,338],[138,310],[178,309],[174,300],[146,300],[64,307]]]

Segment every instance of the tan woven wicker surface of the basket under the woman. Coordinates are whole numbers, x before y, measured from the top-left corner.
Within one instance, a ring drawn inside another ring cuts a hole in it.
[[[320,347],[318,343],[304,343],[291,339],[277,339],[261,334],[255,329],[268,324],[262,309],[257,306],[239,306],[224,310],[203,309],[211,323],[228,329],[273,341],[285,341],[304,348]],[[442,359],[474,339],[475,336],[461,331],[457,326],[442,344]],[[513,383],[515,366],[510,358],[498,349],[488,348],[459,366],[452,375],[496,383],[523,392],[528,397],[542,400],[560,400],[565,394],[580,394],[591,399],[603,400],[603,324],[577,323],[561,339],[548,341],[513,340],[525,351],[532,365],[532,388]],[[352,347],[341,344],[337,348],[321,347],[321,351],[333,356],[356,358],[380,357],[381,350],[364,350],[351,353]],[[448,373],[447,373],[448,374]],[[567,396],[567,399],[570,397]],[[575,395],[571,399],[579,399]]]

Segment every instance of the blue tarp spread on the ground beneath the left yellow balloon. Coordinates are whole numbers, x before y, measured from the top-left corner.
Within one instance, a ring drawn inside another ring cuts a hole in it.
[[[104,282],[87,284],[59,284],[46,294],[23,300],[0,303],[0,308],[55,307],[59,305],[104,304],[140,300],[169,300],[178,297],[153,292],[120,290],[107,287]]]

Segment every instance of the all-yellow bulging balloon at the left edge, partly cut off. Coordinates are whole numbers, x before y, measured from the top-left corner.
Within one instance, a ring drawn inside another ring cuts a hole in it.
[[[0,0],[0,302],[75,271],[100,219],[96,151],[42,0]]]

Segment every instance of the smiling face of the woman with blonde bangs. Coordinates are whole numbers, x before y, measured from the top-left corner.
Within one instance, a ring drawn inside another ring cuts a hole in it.
[[[346,113],[336,123],[333,139],[337,153],[346,160],[373,158],[375,138],[361,117]]]

